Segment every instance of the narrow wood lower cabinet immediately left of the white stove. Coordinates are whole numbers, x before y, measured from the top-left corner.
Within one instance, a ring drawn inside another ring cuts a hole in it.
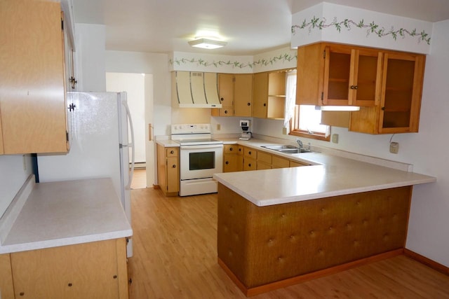
[[[157,179],[166,196],[180,191],[179,148],[157,145]]]

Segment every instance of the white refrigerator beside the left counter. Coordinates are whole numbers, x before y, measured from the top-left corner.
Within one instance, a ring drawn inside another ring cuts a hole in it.
[[[110,177],[131,223],[133,122],[126,92],[67,92],[70,150],[37,157],[40,182]],[[133,256],[128,240],[127,254]]]

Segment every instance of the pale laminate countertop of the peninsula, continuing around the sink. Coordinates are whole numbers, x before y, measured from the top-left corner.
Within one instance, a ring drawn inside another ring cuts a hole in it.
[[[382,161],[380,165],[375,165],[325,153],[281,154],[260,147],[275,143],[257,139],[223,141],[225,144],[238,143],[311,164],[213,175],[218,182],[260,207],[436,181],[434,176],[380,166]],[[385,164],[389,162],[384,161]]]

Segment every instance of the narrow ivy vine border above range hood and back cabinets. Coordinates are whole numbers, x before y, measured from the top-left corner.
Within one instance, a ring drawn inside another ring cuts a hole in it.
[[[232,61],[232,60],[213,60],[212,62],[203,60],[201,58],[173,58],[169,60],[169,63],[171,65],[181,65],[181,64],[196,64],[197,66],[203,66],[203,67],[229,67],[237,68],[237,69],[244,69],[246,67],[249,67],[250,69],[253,69],[255,66],[267,66],[267,65],[273,65],[276,62],[290,62],[292,60],[297,60],[297,55],[291,55],[289,53],[277,55],[274,57],[271,57],[269,59],[260,59],[255,62],[238,62],[238,61]]]

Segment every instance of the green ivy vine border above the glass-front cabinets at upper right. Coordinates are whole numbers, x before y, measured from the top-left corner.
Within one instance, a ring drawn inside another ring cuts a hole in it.
[[[304,22],[302,22],[301,25],[293,25],[292,34],[295,35],[297,29],[308,29],[310,33],[313,29],[323,30],[329,27],[335,28],[337,32],[340,33],[342,28],[345,28],[349,31],[352,29],[352,26],[360,29],[366,29],[366,36],[370,34],[376,34],[379,37],[391,36],[395,41],[398,39],[398,37],[405,39],[407,36],[416,36],[418,38],[418,43],[424,41],[428,45],[430,45],[429,34],[424,32],[424,30],[420,33],[418,33],[416,29],[394,29],[394,27],[391,27],[389,30],[387,30],[384,27],[375,24],[374,21],[370,22],[369,24],[365,24],[365,21],[363,19],[359,22],[354,22],[353,20],[349,19],[338,21],[337,18],[333,18],[333,22],[328,23],[326,18],[316,18],[314,16],[309,22],[304,19]]]

